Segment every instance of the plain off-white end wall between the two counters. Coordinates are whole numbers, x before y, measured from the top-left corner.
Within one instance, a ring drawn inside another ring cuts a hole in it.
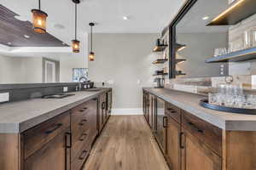
[[[142,113],[143,91],[152,86],[152,49],[157,34],[95,34],[95,61],[89,61],[92,81],[113,81],[113,111]]]

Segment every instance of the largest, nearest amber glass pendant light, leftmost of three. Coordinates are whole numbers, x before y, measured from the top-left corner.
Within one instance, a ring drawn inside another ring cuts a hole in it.
[[[33,30],[37,33],[46,33],[46,19],[48,14],[41,10],[41,0],[38,0],[38,9],[32,9],[32,25]]]

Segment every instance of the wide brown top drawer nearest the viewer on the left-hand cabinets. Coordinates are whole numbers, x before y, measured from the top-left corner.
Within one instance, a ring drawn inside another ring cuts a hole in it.
[[[70,114],[66,112],[27,130],[23,133],[25,159],[69,126]]]

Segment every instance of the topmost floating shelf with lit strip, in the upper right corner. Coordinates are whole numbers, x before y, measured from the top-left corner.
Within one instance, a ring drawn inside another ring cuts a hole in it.
[[[214,18],[207,26],[230,26],[236,25],[241,20],[247,19],[256,13],[255,0],[236,0],[230,8]]]

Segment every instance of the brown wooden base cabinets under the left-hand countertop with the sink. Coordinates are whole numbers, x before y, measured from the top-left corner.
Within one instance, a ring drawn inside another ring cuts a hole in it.
[[[106,94],[23,133],[0,133],[0,170],[80,170],[99,134],[99,111],[102,127],[108,120]]]

